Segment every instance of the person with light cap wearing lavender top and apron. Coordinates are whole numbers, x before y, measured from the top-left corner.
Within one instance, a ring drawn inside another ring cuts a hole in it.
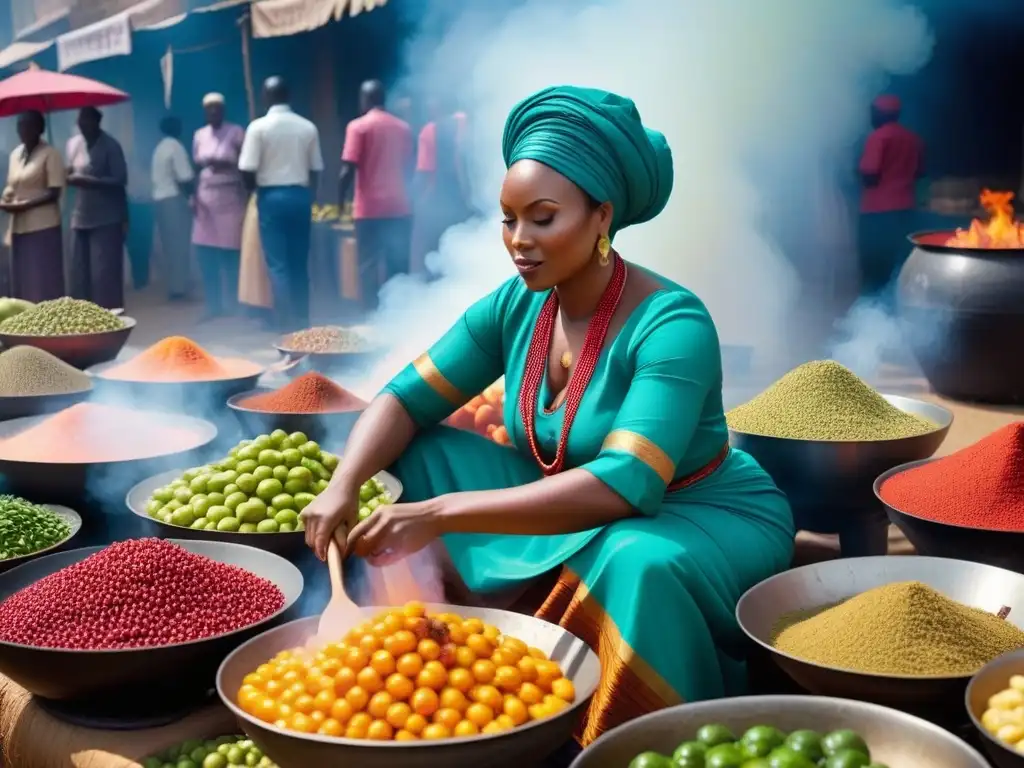
[[[196,187],[193,245],[203,280],[204,319],[234,314],[239,307],[239,262],[247,196],[239,172],[246,132],[224,121],[224,97],[203,99],[207,124],[193,138],[200,169]]]

